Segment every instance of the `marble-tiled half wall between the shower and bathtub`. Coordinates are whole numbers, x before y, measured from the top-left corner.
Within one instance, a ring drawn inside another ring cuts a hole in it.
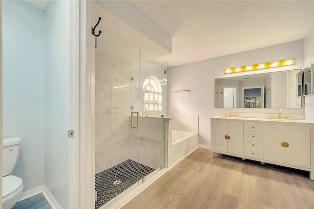
[[[139,156],[139,163],[151,168],[159,168],[165,163],[165,121],[168,118],[140,117],[140,129],[134,129],[133,135],[139,136],[139,155],[138,150],[133,150],[131,156]],[[167,134],[166,134],[167,135]],[[138,143],[137,138],[132,140]],[[131,146],[131,147],[135,147]],[[133,160],[134,160],[133,158]],[[134,160],[136,161],[136,160]]]

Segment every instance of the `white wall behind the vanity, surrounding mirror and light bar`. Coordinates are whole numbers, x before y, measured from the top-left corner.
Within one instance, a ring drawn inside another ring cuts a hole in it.
[[[224,69],[243,65],[258,64],[269,61],[295,58],[295,65],[271,68],[260,71],[224,75]],[[210,120],[217,111],[225,109],[214,108],[214,79],[242,76],[256,73],[266,73],[304,67],[304,40],[270,46],[258,50],[241,52],[227,56],[207,59],[184,64],[168,69],[168,112],[173,114],[199,115],[199,143],[210,145]],[[174,93],[175,90],[190,89],[190,92]],[[278,109],[235,109],[234,112],[265,112],[277,113]],[[283,113],[304,114],[304,108],[284,109]]]

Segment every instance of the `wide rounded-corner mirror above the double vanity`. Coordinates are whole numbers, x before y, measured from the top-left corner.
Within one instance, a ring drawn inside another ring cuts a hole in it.
[[[215,79],[216,108],[301,108],[302,70]]]

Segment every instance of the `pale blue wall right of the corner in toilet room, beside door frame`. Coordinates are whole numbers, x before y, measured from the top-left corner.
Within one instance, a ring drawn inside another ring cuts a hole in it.
[[[69,208],[70,1],[51,1],[45,11],[45,185]]]

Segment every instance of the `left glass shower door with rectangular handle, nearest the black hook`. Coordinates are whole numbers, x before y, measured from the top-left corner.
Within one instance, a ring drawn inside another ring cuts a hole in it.
[[[95,48],[95,208],[138,185],[139,48],[100,28]],[[134,132],[134,130],[136,130]]]

